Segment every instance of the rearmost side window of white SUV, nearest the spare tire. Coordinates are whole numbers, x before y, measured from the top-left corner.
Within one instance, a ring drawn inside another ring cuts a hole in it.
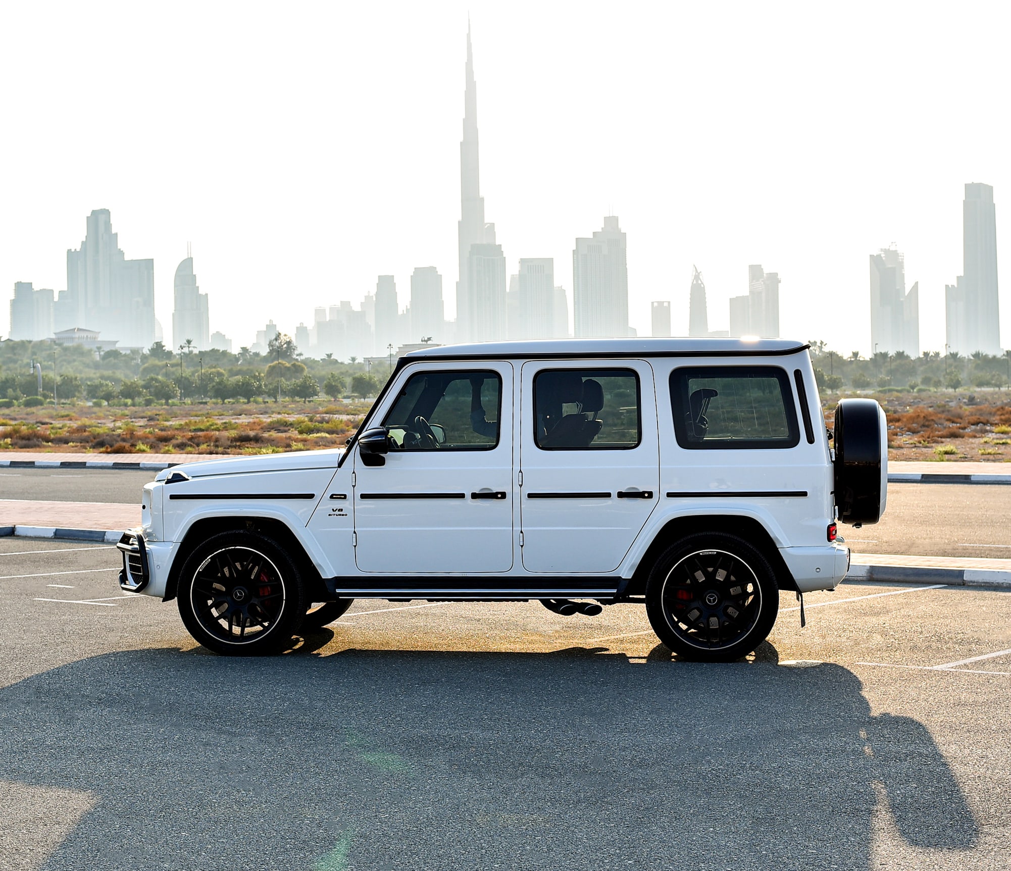
[[[682,448],[754,450],[800,442],[790,376],[776,366],[675,369],[670,403]]]

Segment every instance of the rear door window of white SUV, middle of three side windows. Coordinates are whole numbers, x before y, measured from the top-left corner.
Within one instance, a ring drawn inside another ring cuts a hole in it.
[[[639,407],[630,369],[546,369],[534,377],[534,441],[546,451],[635,448]]]

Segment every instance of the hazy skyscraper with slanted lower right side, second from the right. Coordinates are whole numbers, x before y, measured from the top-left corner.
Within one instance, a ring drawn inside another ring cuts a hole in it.
[[[906,293],[904,258],[894,248],[870,255],[870,343],[875,351],[920,356],[920,289]]]

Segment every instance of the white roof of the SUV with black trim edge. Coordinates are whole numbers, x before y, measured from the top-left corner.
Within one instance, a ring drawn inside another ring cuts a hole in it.
[[[544,338],[440,345],[410,351],[403,360],[553,357],[766,357],[797,354],[808,345],[789,338]]]

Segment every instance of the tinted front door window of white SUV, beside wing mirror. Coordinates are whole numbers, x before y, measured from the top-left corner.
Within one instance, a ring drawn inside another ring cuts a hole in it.
[[[496,372],[417,372],[383,418],[393,451],[488,451],[498,444]]]

